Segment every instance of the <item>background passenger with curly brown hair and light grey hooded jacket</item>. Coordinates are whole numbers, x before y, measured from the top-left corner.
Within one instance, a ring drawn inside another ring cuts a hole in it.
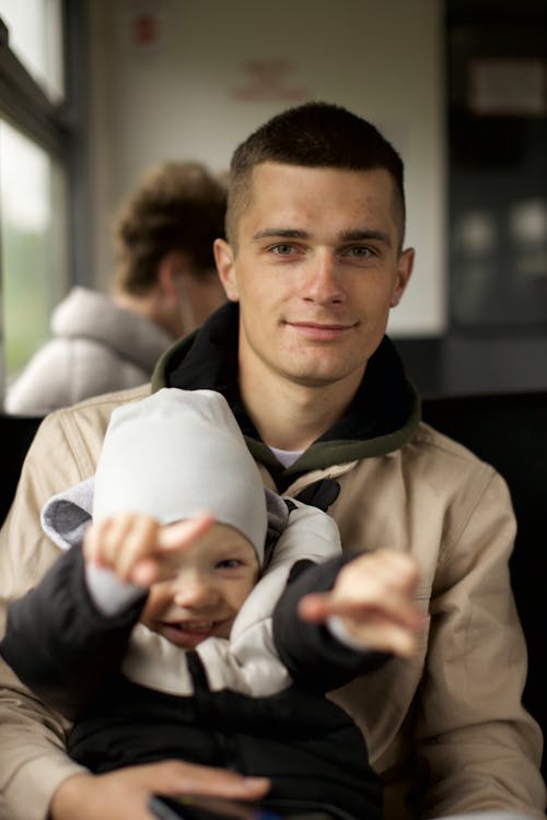
[[[112,296],[70,291],[51,316],[51,339],[11,386],[7,410],[45,415],[148,382],[163,351],[225,301],[212,254],[225,201],[224,185],[199,163],[149,172],[115,224]]]

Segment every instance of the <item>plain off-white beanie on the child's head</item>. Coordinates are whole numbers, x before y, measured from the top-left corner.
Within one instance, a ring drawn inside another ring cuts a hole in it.
[[[263,563],[264,485],[224,397],[163,388],[117,408],[95,476],[94,520],[132,512],[171,524],[202,511],[243,532]]]

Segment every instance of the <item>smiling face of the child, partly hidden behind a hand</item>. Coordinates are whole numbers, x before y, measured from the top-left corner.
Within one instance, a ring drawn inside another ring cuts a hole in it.
[[[229,637],[257,578],[249,541],[233,527],[214,524],[181,557],[176,576],[151,587],[140,620],[185,649],[210,635]]]

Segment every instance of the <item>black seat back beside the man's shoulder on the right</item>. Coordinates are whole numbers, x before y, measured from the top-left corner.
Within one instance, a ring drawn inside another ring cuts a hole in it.
[[[528,646],[524,703],[547,736],[547,393],[429,399],[423,420],[509,484],[519,523],[511,579]],[[545,752],[542,772],[547,778]]]

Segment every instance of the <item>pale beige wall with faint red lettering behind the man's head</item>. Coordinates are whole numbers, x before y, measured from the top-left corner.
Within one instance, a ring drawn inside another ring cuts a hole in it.
[[[439,0],[91,0],[95,270],[106,286],[110,219],[165,159],[228,167],[238,142],[306,99],[373,121],[407,169],[415,278],[393,335],[444,329],[443,34]],[[148,14],[156,36],[135,37]]]

